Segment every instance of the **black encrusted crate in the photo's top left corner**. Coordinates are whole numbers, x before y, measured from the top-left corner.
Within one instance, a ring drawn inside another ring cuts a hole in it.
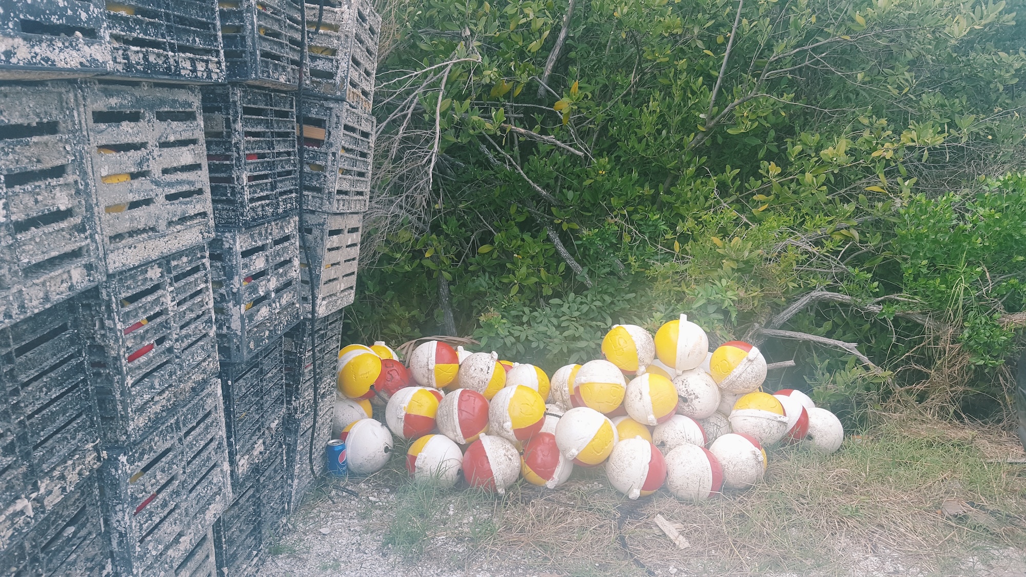
[[[111,69],[100,0],[21,0],[0,11],[0,79],[46,79]]]

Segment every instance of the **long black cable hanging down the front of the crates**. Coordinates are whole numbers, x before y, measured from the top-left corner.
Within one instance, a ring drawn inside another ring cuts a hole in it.
[[[315,32],[320,32],[320,26],[321,26],[321,23],[323,22],[323,17],[324,17],[324,0],[320,0],[320,9],[317,11],[317,26],[316,26],[316,28],[314,28]],[[309,454],[307,455],[307,459],[308,459],[308,463],[310,465],[310,475],[311,476],[317,476],[317,471],[314,468],[314,440],[317,438],[317,413],[318,413],[318,410],[319,410],[318,406],[320,405],[320,402],[319,402],[320,398],[318,398],[319,391],[317,390],[319,388],[319,385],[320,385],[320,380],[318,379],[318,374],[317,374],[318,373],[317,372],[317,290],[316,290],[316,287],[314,285],[314,268],[313,268],[313,262],[310,260],[310,247],[307,245],[307,243],[303,242],[303,234],[304,234],[304,231],[307,228],[306,227],[306,219],[305,219],[306,211],[304,210],[304,205],[303,205],[304,204],[303,203],[303,197],[306,195],[306,189],[304,187],[305,183],[304,183],[304,178],[303,178],[303,175],[305,172],[304,168],[306,167],[306,151],[305,151],[306,145],[304,144],[304,141],[306,140],[306,132],[307,132],[307,130],[306,130],[306,124],[304,124],[304,121],[306,120],[306,115],[304,114],[304,110],[303,110],[303,95],[304,95],[303,94],[303,91],[304,91],[303,90],[303,71],[304,71],[305,67],[309,66],[309,64],[310,64],[309,63],[309,57],[307,55],[308,52],[309,52],[309,50],[310,50],[310,47],[309,47],[309,44],[308,44],[308,40],[307,40],[307,0],[300,0],[300,21],[302,22],[302,26],[301,26],[302,36],[300,37],[300,45],[301,45],[302,51],[300,53],[299,90],[298,90],[297,95],[295,95],[295,122],[299,125],[299,130],[297,130],[297,134],[295,134],[295,155],[297,155],[297,159],[298,159],[299,164],[300,164],[300,166],[299,166],[299,168],[300,168],[300,174],[299,174],[299,188],[300,188],[300,193],[299,193],[299,200],[298,200],[299,211],[300,211],[300,219],[299,219],[299,225],[300,225],[299,239],[300,239],[300,245],[303,247],[303,255],[304,255],[304,257],[307,260],[307,280],[309,281],[309,284],[310,284],[310,349],[312,351],[311,352],[311,356],[313,357],[313,367],[312,368],[313,368],[313,378],[314,378],[314,386],[313,386],[313,389],[314,389],[313,390],[313,393],[314,393],[314,406],[313,406],[314,420],[313,420],[313,424],[311,424],[311,426],[310,426],[310,451],[309,451]],[[301,303],[301,308],[302,308],[302,303]],[[304,338],[304,343],[306,343],[306,338]],[[303,371],[302,370],[300,371],[299,379],[300,379],[300,383],[299,383],[300,391],[299,392],[302,392],[302,389],[303,389]],[[301,420],[301,423],[302,423],[302,420]]]

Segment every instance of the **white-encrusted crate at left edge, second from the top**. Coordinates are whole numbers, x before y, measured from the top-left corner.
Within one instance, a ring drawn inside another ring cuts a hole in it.
[[[5,213],[0,221],[0,325],[73,297],[100,278],[76,109],[77,94],[69,82],[0,86]]]

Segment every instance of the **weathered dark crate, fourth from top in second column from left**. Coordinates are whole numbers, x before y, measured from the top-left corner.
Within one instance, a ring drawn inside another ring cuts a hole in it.
[[[147,438],[104,450],[101,503],[115,573],[173,575],[231,502],[216,379]]]

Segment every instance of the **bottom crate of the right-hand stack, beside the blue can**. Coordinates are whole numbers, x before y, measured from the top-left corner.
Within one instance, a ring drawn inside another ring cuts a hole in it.
[[[331,395],[333,400],[334,395]],[[313,480],[324,474],[324,447],[331,439],[334,402],[321,402],[314,413],[289,417],[285,421],[285,471],[288,475],[288,510],[299,510]],[[313,438],[311,439],[311,431]],[[310,469],[310,444],[313,440],[313,470]]]

